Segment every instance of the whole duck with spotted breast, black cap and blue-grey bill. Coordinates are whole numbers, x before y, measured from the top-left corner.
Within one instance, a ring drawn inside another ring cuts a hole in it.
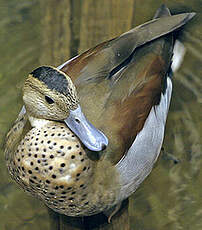
[[[195,14],[153,20],[59,67],[40,66],[6,137],[11,177],[67,216],[110,215],[158,159],[172,94],[173,31]]]

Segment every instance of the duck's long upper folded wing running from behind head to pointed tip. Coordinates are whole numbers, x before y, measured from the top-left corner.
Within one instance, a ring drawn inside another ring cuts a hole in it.
[[[99,82],[113,74],[113,70],[130,57],[136,47],[178,29],[194,15],[195,13],[184,13],[155,18],[89,49],[58,68],[69,74],[77,85],[88,84],[89,81]]]

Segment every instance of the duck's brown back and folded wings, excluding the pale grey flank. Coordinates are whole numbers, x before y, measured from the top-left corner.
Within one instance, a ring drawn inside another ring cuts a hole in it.
[[[90,122],[108,137],[105,157],[114,164],[127,154],[166,91],[172,35],[150,41],[184,25],[193,15],[161,15],[60,66],[74,81]]]

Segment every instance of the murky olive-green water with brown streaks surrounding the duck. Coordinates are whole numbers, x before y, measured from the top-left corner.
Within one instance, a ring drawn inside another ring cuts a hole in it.
[[[165,1],[173,13],[199,12],[200,0]],[[69,57],[150,19],[160,0],[0,0],[0,139],[22,105],[21,86],[41,64]],[[164,147],[180,163],[161,157],[132,196],[131,229],[202,229],[202,31],[201,16],[180,40],[187,47],[174,93]],[[1,148],[2,149],[2,148]],[[49,229],[47,209],[9,178],[0,154],[0,229]]]

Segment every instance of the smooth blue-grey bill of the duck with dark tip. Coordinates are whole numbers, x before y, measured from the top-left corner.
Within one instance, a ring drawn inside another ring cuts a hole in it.
[[[108,145],[107,137],[87,120],[80,106],[70,110],[64,122],[89,150],[102,151]]]

